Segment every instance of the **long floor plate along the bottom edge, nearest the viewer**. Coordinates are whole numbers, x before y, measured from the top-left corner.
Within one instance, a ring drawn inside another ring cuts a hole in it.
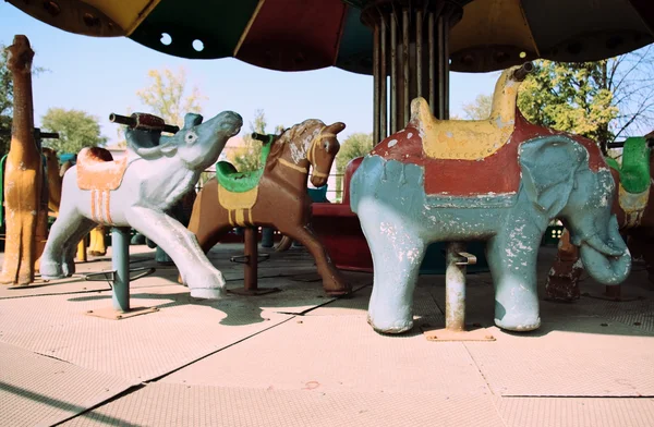
[[[150,383],[63,426],[505,427],[483,395],[349,393]],[[123,424],[124,423],[124,424]]]

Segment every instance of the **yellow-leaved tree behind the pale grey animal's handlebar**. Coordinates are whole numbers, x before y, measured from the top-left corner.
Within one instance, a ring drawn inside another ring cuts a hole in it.
[[[201,95],[197,86],[190,89],[186,71],[180,68],[177,73],[170,69],[150,70],[147,73],[150,85],[136,91],[141,101],[149,107],[153,114],[160,117],[169,124],[184,125],[187,112],[202,112],[202,102],[207,99]]]

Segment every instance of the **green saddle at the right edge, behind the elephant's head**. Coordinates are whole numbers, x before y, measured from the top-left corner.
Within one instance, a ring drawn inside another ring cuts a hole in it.
[[[622,148],[622,166],[607,159],[609,167],[620,172],[620,184],[627,193],[638,194],[650,187],[650,148],[644,137],[630,137]]]

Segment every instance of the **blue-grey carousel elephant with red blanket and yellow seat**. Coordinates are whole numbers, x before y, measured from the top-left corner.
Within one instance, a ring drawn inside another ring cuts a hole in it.
[[[414,99],[407,127],[352,176],[350,206],[373,255],[376,331],[413,327],[413,290],[432,242],[486,241],[495,324],[513,331],[541,325],[536,258],[554,218],[571,230],[593,278],[617,284],[629,274],[602,152],[592,141],[529,123],[516,103],[518,70],[500,75],[487,120],[437,120]]]

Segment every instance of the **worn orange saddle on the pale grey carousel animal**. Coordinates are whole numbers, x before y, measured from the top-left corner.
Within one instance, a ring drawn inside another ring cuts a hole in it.
[[[77,155],[80,190],[117,190],[128,169],[128,158],[113,160],[105,148],[83,148]]]

